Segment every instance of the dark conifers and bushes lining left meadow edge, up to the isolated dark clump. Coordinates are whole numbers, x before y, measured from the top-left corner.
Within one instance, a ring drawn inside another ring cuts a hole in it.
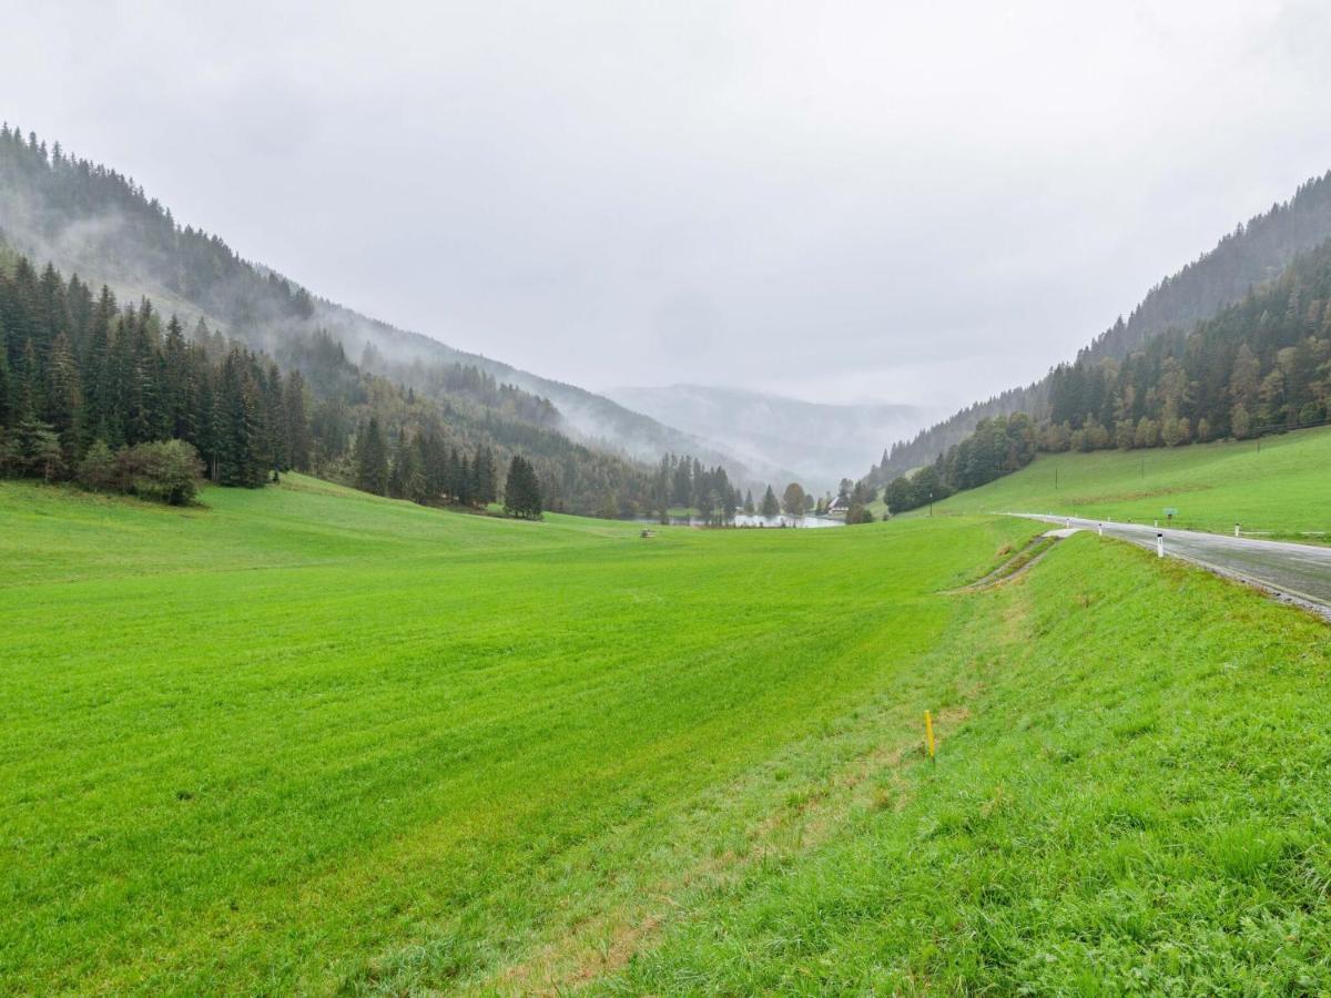
[[[339,357],[317,342],[319,351]],[[379,395],[386,407],[415,402]],[[311,406],[299,370],[284,374],[202,321],[186,337],[146,298],[122,306],[108,287],[93,295],[77,275],[65,281],[51,265],[37,274],[27,257],[0,254],[0,472],[185,503],[201,475],[257,487],[322,462],[378,495],[498,500],[488,444],[467,454],[439,422],[409,430],[403,420],[390,446],[374,406],[363,407],[370,415],[353,428],[339,418],[345,399]],[[512,508],[539,515],[535,471],[516,459]]]

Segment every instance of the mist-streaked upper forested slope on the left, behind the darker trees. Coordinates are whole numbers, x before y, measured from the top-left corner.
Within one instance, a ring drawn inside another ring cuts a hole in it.
[[[220,237],[177,224],[130,178],[9,126],[0,128],[0,233],[35,261],[49,259],[95,285],[108,283],[121,297],[146,294],[177,313],[186,327],[205,318],[284,366],[298,366],[307,353],[322,349],[311,343],[314,337],[329,338],[367,375],[526,426],[528,447],[560,450],[542,432],[554,430],[591,448],[652,462],[669,451],[697,454],[745,476],[729,455],[610,399],[314,295],[242,259]]]

